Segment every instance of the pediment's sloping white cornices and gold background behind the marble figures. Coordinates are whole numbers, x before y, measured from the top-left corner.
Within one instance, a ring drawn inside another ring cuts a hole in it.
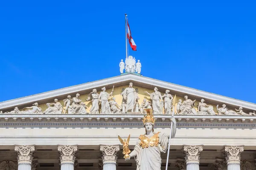
[[[116,98],[116,102],[119,102],[118,104],[121,105],[122,96],[120,94],[122,93],[124,88],[129,86],[129,82],[133,83],[134,88],[136,88],[136,91],[140,97],[140,99],[138,100],[139,105],[143,102],[143,99],[151,100],[150,96],[144,91],[152,93],[154,92],[154,87],[157,87],[158,91],[162,95],[165,93],[166,90],[169,90],[169,93],[172,94],[172,96],[176,95],[175,103],[177,103],[178,99],[182,99],[183,101],[185,95],[188,96],[188,98],[191,100],[196,100],[194,108],[197,108],[198,102],[200,102],[201,99],[204,99],[207,105],[212,105],[215,113],[218,112],[216,110],[216,105],[220,105],[219,107],[221,107],[222,104],[227,105],[227,107],[231,108],[232,110],[242,107],[243,111],[246,113],[256,110],[256,104],[254,103],[244,102],[241,100],[232,99],[229,97],[212,94],[205,91],[200,91],[197,89],[172,84],[169,82],[163,82],[157,79],[139,76],[137,74],[123,74],[121,76],[111,77],[108,79],[101,79],[94,82],[87,82],[81,85],[75,85],[41,94],[26,96],[19,99],[0,102],[0,111],[2,111],[3,113],[6,111],[12,111],[16,106],[19,109],[22,109],[24,107],[32,106],[32,104],[35,102],[38,102],[39,106],[42,108],[42,110],[44,110],[47,108],[46,103],[52,103],[54,99],[58,99],[59,102],[61,102],[61,104],[63,105],[63,99],[66,99],[68,95],[74,97],[77,93],[79,93],[81,95],[81,99],[85,101],[85,104],[87,105],[87,111],[89,112],[91,102],[86,102],[88,94],[92,92],[93,89],[96,89],[99,93],[102,87],[105,87],[106,91],[110,93],[113,86],[114,91],[112,97],[114,96]]]

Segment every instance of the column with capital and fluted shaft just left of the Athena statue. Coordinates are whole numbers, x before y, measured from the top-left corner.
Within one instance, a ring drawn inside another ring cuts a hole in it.
[[[119,144],[100,145],[100,151],[102,152],[103,170],[116,170],[116,154],[119,150]]]

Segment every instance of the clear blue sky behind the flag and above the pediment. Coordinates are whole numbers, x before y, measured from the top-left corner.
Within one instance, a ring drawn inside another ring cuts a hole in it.
[[[0,4],[0,101],[119,75],[125,13],[145,77],[256,103],[256,1]]]

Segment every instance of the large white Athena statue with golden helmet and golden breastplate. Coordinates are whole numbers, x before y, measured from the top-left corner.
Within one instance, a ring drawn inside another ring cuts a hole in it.
[[[140,135],[134,150],[129,154],[125,161],[134,157],[137,163],[137,170],[161,170],[160,153],[165,153],[168,149],[169,135],[161,132],[154,132],[155,119],[151,109],[145,109],[147,116],[143,118],[145,134]],[[172,117],[173,128],[172,138],[176,133],[176,121]]]

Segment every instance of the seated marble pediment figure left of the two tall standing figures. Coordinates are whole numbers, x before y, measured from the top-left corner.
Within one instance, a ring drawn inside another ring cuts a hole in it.
[[[72,113],[74,114],[87,114],[86,106],[84,102],[80,99],[80,94],[76,94],[76,97],[72,99],[73,103],[69,108],[72,109]]]

